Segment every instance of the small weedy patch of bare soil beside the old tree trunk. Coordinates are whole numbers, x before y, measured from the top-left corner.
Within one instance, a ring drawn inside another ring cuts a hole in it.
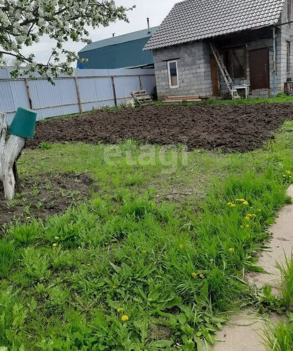
[[[89,197],[93,181],[85,174],[43,174],[40,179],[21,180],[23,192],[7,202],[0,199],[0,226],[26,217],[45,218],[64,212],[70,204]]]

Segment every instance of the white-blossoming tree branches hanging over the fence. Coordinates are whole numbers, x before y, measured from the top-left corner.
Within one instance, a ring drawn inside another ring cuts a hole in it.
[[[128,22],[126,13],[134,7],[116,7],[114,0],[0,0],[0,65],[5,64],[5,55],[13,57],[15,78],[38,72],[53,82],[59,73],[73,74],[71,64],[78,56],[64,43],[90,43],[86,28],[106,27],[115,20]],[[24,46],[38,43],[44,35],[55,42],[46,64],[36,62],[34,54],[22,54]]]

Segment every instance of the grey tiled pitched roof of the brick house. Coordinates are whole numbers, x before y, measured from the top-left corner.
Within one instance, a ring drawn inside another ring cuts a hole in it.
[[[285,0],[185,0],[174,5],[144,50],[276,24]]]

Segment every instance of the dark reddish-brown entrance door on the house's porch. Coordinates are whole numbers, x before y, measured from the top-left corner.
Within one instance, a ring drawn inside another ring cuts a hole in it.
[[[249,66],[251,90],[270,88],[269,49],[250,50]]]

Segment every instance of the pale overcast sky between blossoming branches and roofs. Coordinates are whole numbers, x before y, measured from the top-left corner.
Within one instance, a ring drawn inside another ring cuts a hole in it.
[[[115,36],[139,31],[147,28],[147,17],[150,18],[150,26],[155,27],[161,24],[175,3],[180,0],[117,0],[115,3],[118,6],[131,7],[136,5],[136,8],[128,12],[129,23],[117,21],[111,23],[108,27],[100,27],[95,30],[90,29],[89,38],[93,41],[106,39],[115,33]],[[68,42],[65,47],[71,51],[78,52],[85,44],[79,42]],[[42,37],[38,44],[23,48],[23,54],[35,54],[36,60],[41,63],[46,63],[50,54],[49,48],[53,47],[53,42],[48,37]],[[73,64],[75,66],[75,64]]]

